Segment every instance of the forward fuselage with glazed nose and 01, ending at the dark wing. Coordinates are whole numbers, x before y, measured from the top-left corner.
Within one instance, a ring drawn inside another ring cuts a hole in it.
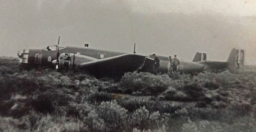
[[[53,47],[53,46],[52,46]],[[20,66],[52,66],[52,61],[57,59],[57,50],[45,49],[25,49],[20,50],[18,56],[20,57]],[[107,50],[96,50],[89,48],[71,47],[71,46],[60,46],[61,53],[74,53],[84,56],[89,56],[96,59],[114,57],[125,53],[107,51]]]

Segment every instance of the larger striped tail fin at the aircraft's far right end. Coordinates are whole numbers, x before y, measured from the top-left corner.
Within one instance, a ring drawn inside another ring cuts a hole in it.
[[[228,71],[238,74],[244,70],[244,50],[233,48],[228,56]]]

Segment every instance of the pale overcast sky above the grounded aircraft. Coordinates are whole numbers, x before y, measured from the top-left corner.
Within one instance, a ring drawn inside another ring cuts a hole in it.
[[[256,65],[256,0],[0,0],[0,56],[58,42],[191,61],[196,51],[226,60],[245,50]]]

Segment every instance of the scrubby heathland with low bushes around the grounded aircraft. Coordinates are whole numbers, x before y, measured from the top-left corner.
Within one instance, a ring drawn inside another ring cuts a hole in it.
[[[121,80],[0,59],[0,131],[256,131],[256,68]]]

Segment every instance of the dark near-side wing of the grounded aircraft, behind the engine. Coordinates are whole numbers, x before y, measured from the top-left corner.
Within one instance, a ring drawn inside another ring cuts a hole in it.
[[[147,57],[145,56],[137,54],[124,54],[120,56],[84,62],[76,65],[76,68],[86,70],[90,74],[98,77],[120,77],[123,76],[125,72],[133,72],[143,68],[146,58]],[[153,61],[154,60],[152,60],[152,62]]]

